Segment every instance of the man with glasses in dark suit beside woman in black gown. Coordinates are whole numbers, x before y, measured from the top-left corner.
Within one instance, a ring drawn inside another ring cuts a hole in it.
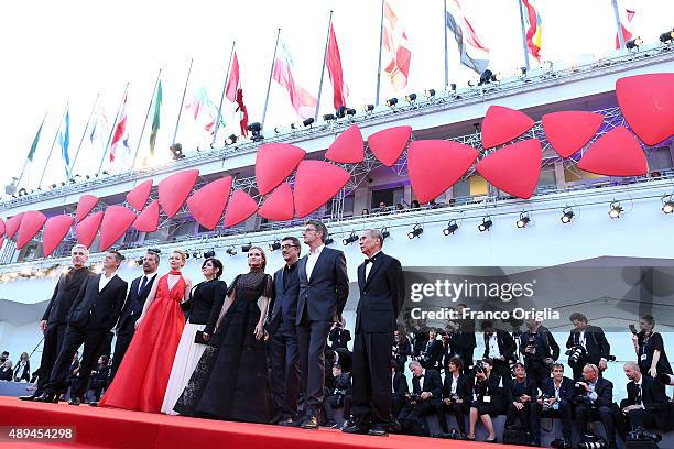
[[[297,297],[300,278],[297,261],[302,248],[296,237],[281,241],[281,255],[285,265],[274,273],[272,304],[267,321],[270,335],[271,396],[273,417],[271,424],[289,424],[297,417],[300,398],[300,353],[297,350]]]

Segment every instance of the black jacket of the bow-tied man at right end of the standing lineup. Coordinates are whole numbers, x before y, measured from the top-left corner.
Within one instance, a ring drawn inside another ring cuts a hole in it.
[[[360,299],[356,307],[356,333],[393,332],[405,297],[405,281],[398,259],[383,252],[374,256],[366,278],[366,264],[358,266]]]

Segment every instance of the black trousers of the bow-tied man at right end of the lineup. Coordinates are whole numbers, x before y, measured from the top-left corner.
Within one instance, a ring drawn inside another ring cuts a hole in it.
[[[393,333],[357,332],[354,340],[354,415],[362,424],[391,425]]]

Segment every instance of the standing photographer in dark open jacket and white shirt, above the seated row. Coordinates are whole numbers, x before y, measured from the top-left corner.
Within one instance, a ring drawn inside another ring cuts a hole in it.
[[[574,381],[579,381],[583,376],[583,366],[587,363],[599,368],[599,375],[606,370],[611,346],[604,335],[604,330],[597,326],[587,324],[587,317],[579,313],[574,313],[568,318],[574,325],[566,340],[566,355],[568,365],[574,370]]]

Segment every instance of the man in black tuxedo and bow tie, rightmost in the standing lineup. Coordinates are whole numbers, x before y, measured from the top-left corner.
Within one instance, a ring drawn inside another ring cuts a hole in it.
[[[402,265],[381,251],[381,231],[360,236],[360,252],[367,259],[358,266],[360,299],[356,307],[354,340],[354,406],[358,421],[349,434],[385,436],[395,418],[391,414],[390,360],[395,320],[405,296]]]

